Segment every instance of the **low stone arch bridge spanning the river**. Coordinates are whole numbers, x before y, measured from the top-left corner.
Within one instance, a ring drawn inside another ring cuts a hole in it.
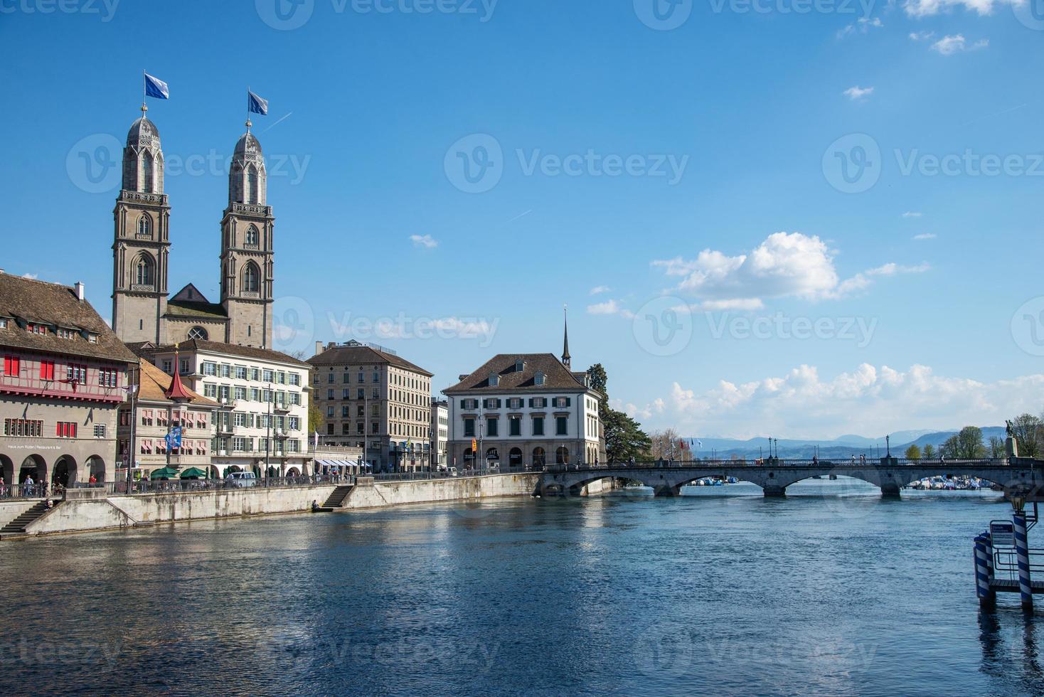
[[[811,477],[830,475],[852,477],[869,482],[884,496],[899,496],[899,490],[920,479],[938,476],[977,477],[998,484],[1006,496],[1013,494],[1036,499],[1044,494],[1044,461],[1017,458],[1007,460],[899,460],[881,458],[880,463],[847,464],[807,460],[767,460],[763,464],[741,462],[685,462],[614,464],[600,467],[548,467],[541,478],[542,496],[576,496],[584,486],[599,479],[638,481],[656,496],[679,496],[686,484],[705,477],[735,477],[761,487],[766,497],[786,496],[786,487]],[[1044,501],[1044,498],[1040,500]]]

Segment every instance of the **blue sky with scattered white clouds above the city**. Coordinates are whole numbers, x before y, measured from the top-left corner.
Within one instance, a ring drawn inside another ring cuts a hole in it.
[[[269,100],[280,347],[374,340],[446,387],[557,353],[568,304],[574,365],[650,428],[1039,412],[1044,8],[657,1],[0,0],[0,265],[109,313],[97,162],[147,69],[172,291],[217,299],[221,163]]]

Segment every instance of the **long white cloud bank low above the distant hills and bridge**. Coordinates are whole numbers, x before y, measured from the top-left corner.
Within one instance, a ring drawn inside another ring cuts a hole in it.
[[[673,383],[664,422],[707,435],[749,438],[877,435],[909,428],[1001,424],[1041,408],[1044,375],[982,383],[936,376],[924,365],[906,371],[868,363],[823,379],[800,365],[781,377],[720,381],[703,392]]]

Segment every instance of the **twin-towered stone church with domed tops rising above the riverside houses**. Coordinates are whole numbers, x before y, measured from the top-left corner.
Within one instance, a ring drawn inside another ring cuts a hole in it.
[[[276,219],[250,121],[232,155],[221,217],[221,298],[211,303],[191,283],[168,298],[170,205],[163,192],[163,149],[160,131],[142,111],[127,133],[113,212],[113,330],[127,343],[197,339],[270,348]],[[185,256],[200,255],[188,249]]]

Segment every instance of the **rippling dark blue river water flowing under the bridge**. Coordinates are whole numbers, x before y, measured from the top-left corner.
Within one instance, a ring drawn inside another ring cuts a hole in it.
[[[1044,693],[1044,609],[975,599],[998,494],[686,492],[5,543],[0,693]]]

